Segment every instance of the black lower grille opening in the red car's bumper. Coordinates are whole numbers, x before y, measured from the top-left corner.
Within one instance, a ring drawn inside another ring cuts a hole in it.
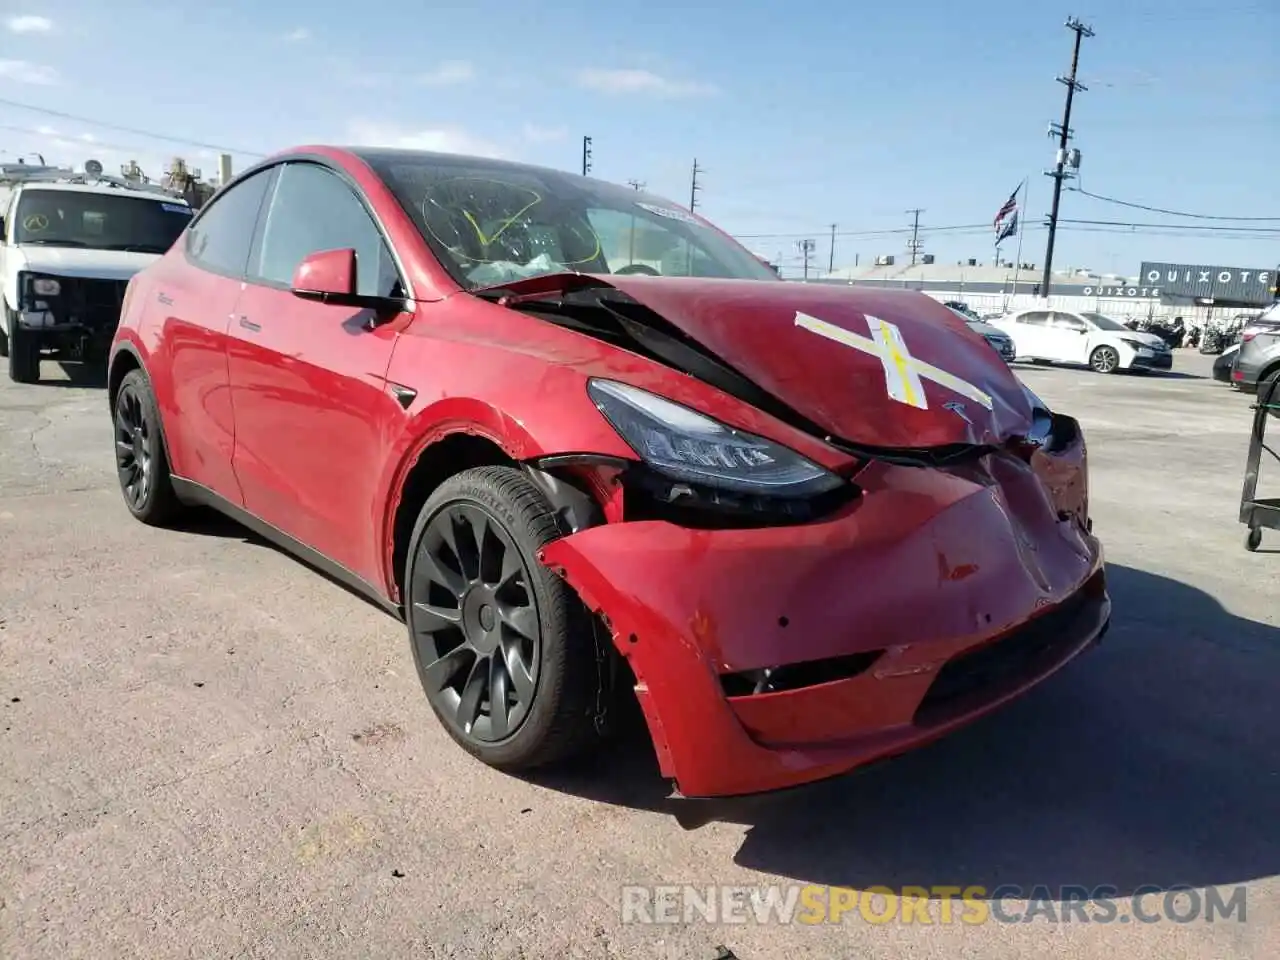
[[[1016,687],[1079,643],[1071,628],[1102,589],[1101,573],[1048,613],[984,646],[948,660],[915,710],[920,727],[945,723]]]

